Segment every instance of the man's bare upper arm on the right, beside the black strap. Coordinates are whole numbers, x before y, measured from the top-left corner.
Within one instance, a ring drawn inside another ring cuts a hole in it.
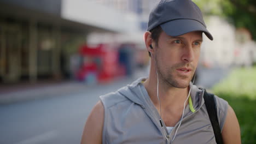
[[[223,141],[225,144],[240,144],[241,134],[239,123],[236,118],[236,114],[231,106],[228,107],[228,113],[226,116],[226,121],[222,130]]]

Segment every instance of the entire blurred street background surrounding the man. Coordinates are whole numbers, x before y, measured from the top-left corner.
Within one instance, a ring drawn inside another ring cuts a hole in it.
[[[98,96],[149,73],[159,0],[0,0],[0,143],[79,143]],[[256,143],[256,2],[194,0],[207,29],[196,85],[226,99]]]

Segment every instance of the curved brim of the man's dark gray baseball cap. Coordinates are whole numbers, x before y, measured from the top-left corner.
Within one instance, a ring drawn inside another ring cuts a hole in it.
[[[213,40],[211,33],[207,31],[206,27],[196,20],[178,19],[165,22],[160,26],[166,34],[172,37],[183,35],[189,32],[202,31],[210,40]]]

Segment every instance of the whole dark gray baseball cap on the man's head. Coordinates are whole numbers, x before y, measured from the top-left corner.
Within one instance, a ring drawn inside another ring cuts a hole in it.
[[[213,40],[206,29],[201,10],[191,0],[161,0],[149,15],[148,31],[159,25],[172,37],[202,31]]]

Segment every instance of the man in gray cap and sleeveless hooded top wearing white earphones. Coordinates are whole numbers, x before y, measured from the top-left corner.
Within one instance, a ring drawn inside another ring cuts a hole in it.
[[[144,40],[150,74],[102,95],[85,124],[81,143],[216,143],[203,93],[191,79],[199,61],[200,9],[190,0],[162,0],[150,13]],[[216,95],[224,143],[241,143],[236,115]]]

